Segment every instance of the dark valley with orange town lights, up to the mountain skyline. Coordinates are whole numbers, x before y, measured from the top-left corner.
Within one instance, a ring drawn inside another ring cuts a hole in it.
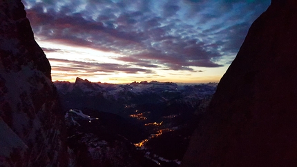
[[[70,148],[86,159],[77,164],[88,166],[179,166],[216,89],[216,83],[115,85],[79,78],[55,86],[66,110]]]

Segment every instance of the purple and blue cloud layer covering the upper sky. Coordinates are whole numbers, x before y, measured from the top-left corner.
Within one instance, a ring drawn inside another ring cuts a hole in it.
[[[150,73],[153,68],[193,71],[224,66],[214,60],[236,54],[268,0],[24,2],[39,40],[115,52],[123,55],[115,59],[130,64],[68,61],[73,70]]]

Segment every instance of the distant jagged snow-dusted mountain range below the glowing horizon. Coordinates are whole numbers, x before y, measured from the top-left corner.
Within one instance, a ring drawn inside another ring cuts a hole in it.
[[[112,83],[92,83],[77,78],[75,83],[55,81],[63,104],[70,108],[93,108],[117,113],[123,105],[158,104],[178,102],[191,107],[213,95],[216,83],[198,85],[178,85],[177,83],[142,81],[125,85]],[[113,104],[113,105],[111,105]]]

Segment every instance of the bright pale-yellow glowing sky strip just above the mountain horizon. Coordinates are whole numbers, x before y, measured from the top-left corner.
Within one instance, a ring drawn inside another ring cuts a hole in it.
[[[148,68],[120,61],[117,57],[122,57],[122,55],[117,55],[113,52],[64,46],[61,43],[51,43],[49,41],[38,41],[38,43],[44,48],[64,50],[63,52],[46,52],[46,57],[48,57],[52,66],[52,81],[75,82],[76,78],[79,77],[88,79],[91,82],[116,84],[132,83],[133,81],[209,83],[220,81],[220,78],[227,70],[227,66],[219,68],[191,66],[194,69],[193,71],[169,70],[162,64],[159,64],[158,68]],[[103,66],[100,66],[101,64]],[[108,69],[108,64],[111,64],[113,67]],[[126,69],[125,66],[128,68]],[[137,70],[125,71],[129,70],[129,68]],[[145,72],[145,70],[151,72]]]

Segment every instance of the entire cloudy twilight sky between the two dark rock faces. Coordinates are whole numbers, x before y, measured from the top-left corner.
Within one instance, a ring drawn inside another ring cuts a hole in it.
[[[269,0],[22,0],[52,81],[218,82]]]

